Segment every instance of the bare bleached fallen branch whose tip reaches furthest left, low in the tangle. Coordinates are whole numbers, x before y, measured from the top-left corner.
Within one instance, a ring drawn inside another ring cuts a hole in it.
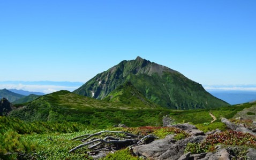
[[[137,143],[138,140],[135,140],[135,139],[125,139],[125,140],[110,140],[110,141],[107,141],[107,140],[103,140],[103,139],[95,139],[93,141],[89,141],[89,142],[86,142],[86,143],[82,143],[81,145],[77,146],[77,147],[74,147],[73,149],[71,149],[69,151],[69,153],[71,153],[72,151],[75,151],[81,147],[84,147],[84,146],[87,146],[87,145],[90,145],[94,142],[103,142],[103,143]]]

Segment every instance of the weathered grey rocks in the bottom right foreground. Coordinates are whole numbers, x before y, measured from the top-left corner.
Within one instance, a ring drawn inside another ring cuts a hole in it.
[[[254,130],[250,130],[245,125],[236,125],[228,119],[222,118],[222,122],[229,127],[231,130],[250,133],[256,136],[253,132],[255,131],[255,122],[254,122]],[[256,159],[256,150],[254,148],[248,148],[246,151],[246,155],[236,155],[237,153],[234,150],[239,150],[237,146],[223,146],[217,145],[215,146],[215,151],[209,153],[200,153],[200,154],[191,154],[191,152],[185,153],[185,148],[188,143],[201,143],[206,140],[208,135],[214,135],[220,133],[220,130],[214,130],[212,132],[204,133],[197,129],[194,125],[185,123],[185,124],[177,124],[177,125],[169,125],[170,127],[177,127],[179,129],[184,130],[185,132],[190,134],[190,137],[175,141],[174,135],[168,135],[164,139],[155,140],[147,145],[135,146],[133,147],[133,153],[140,157],[145,157],[148,159],[171,159],[171,160],[187,160],[187,159],[232,159],[232,158],[240,158],[240,159]]]

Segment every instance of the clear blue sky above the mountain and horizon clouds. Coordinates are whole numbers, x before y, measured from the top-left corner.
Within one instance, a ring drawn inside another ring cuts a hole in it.
[[[1,1],[0,81],[85,83],[138,55],[203,85],[255,85],[256,1]]]

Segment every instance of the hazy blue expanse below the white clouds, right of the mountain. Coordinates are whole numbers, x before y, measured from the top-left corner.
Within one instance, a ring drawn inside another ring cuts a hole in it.
[[[252,91],[209,91],[215,97],[231,105],[252,102],[256,100],[256,92]]]

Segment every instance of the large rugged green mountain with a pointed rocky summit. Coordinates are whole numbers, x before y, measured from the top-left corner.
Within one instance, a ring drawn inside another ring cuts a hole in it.
[[[229,105],[178,71],[140,57],[124,60],[97,74],[73,93],[102,100],[126,82],[130,82],[151,102],[166,108],[183,110]]]

